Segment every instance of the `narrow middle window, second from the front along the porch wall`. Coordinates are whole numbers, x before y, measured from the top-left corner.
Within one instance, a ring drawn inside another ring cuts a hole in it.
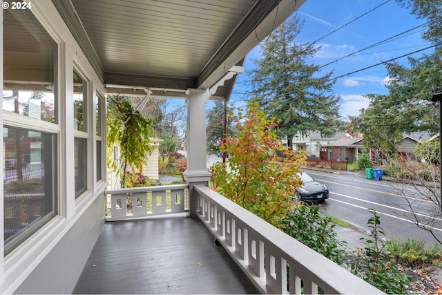
[[[85,79],[74,69],[75,198],[81,196],[88,189],[86,89]]]

